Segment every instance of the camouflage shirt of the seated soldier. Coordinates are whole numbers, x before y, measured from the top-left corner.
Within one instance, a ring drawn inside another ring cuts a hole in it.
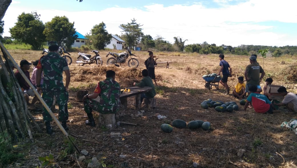
[[[120,84],[113,78],[106,78],[104,81],[98,82],[94,91],[99,93],[96,101],[99,102],[99,111],[103,114],[116,113],[120,109]]]

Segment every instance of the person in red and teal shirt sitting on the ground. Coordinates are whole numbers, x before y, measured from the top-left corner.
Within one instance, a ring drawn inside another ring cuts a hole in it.
[[[246,111],[247,106],[249,104],[252,104],[256,113],[273,113],[273,104],[268,100],[268,98],[265,95],[262,95],[259,92],[257,92],[256,85],[251,85],[249,87],[249,91],[251,91],[252,93],[247,98],[247,102],[244,106],[244,111]]]

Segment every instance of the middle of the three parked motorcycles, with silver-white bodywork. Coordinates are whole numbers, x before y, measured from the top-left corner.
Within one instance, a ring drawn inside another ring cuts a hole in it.
[[[76,63],[83,66],[85,64],[92,64],[92,63],[95,63],[98,65],[98,66],[102,66],[102,59],[101,59],[101,56],[98,54],[99,51],[97,50],[92,50],[91,51],[92,53],[95,53],[95,55],[93,57],[91,57],[90,54],[84,54],[84,53],[81,53],[79,52],[78,53],[78,57],[77,57],[77,61]]]

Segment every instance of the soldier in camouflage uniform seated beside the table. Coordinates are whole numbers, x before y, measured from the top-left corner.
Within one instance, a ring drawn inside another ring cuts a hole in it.
[[[98,82],[94,93],[83,97],[83,106],[89,118],[86,125],[95,126],[93,110],[101,114],[116,114],[119,111],[121,88],[115,77],[116,73],[113,70],[106,71],[106,79]]]

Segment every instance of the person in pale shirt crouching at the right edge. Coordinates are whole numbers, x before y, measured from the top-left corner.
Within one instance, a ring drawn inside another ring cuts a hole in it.
[[[287,92],[285,87],[280,87],[277,92],[279,92],[285,98],[281,103],[274,103],[277,106],[286,106],[289,112],[297,111],[297,95],[292,92]]]

